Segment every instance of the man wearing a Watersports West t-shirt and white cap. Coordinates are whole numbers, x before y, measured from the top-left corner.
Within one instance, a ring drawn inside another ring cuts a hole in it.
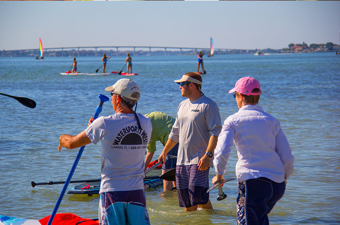
[[[144,155],[151,138],[148,117],[133,111],[140,96],[136,82],[120,79],[106,87],[111,92],[113,115],[89,121],[79,134],[59,137],[62,147],[77,148],[91,142],[102,145],[102,181],[99,219],[102,225],[150,225],[144,194]]]

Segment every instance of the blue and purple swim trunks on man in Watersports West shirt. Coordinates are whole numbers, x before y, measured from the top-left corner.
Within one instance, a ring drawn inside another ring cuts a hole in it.
[[[144,190],[100,194],[99,224],[150,225]]]

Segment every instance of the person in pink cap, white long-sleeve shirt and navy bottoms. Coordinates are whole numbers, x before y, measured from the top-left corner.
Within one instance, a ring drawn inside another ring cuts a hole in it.
[[[238,225],[269,225],[268,214],[285,192],[294,157],[280,122],[257,106],[261,94],[257,80],[241,78],[229,93],[235,93],[239,110],[224,121],[214,151],[212,182],[224,179],[235,142]]]

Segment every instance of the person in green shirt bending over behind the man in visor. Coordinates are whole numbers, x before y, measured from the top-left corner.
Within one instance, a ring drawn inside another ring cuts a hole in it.
[[[151,133],[151,139],[147,147],[144,170],[148,168],[148,165],[153,158],[153,154],[156,151],[156,142],[160,141],[164,146],[168,141],[168,136],[171,132],[172,125],[175,123],[174,118],[163,112],[150,112],[148,114],[145,114],[145,116],[150,118],[151,124],[153,126],[153,131]],[[178,144],[170,150],[168,155],[177,156],[177,150]],[[172,168],[176,168],[176,161],[177,159],[174,158],[170,158],[169,160],[167,160],[162,166],[162,174]],[[174,181],[171,182],[168,180],[163,180],[163,189],[164,191],[176,189],[176,183]]]

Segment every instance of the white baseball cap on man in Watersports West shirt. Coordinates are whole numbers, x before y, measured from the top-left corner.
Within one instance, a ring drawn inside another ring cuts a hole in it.
[[[120,79],[114,85],[105,88],[105,91],[113,92],[115,95],[124,96],[132,100],[138,100],[140,89],[138,84],[131,79]]]

